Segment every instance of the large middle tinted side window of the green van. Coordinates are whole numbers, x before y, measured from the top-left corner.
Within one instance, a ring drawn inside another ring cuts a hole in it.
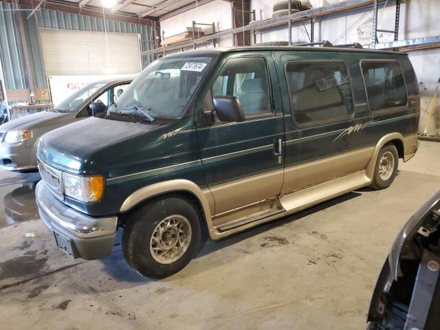
[[[350,78],[344,63],[290,62],[285,71],[292,115],[298,124],[338,120],[353,113]]]

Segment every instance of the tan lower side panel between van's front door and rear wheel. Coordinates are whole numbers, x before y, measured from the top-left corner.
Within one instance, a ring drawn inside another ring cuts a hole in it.
[[[374,146],[342,153],[315,162],[285,168],[282,195],[320,182],[363,170],[374,153]]]

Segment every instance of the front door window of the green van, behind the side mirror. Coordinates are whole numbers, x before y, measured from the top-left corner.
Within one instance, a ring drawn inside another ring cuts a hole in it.
[[[272,113],[267,78],[264,58],[232,58],[212,84],[212,96],[235,96],[246,116]]]

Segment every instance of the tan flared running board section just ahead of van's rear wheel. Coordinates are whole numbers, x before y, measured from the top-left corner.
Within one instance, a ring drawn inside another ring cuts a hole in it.
[[[365,170],[361,170],[316,186],[291,192],[281,197],[280,203],[287,212],[298,212],[323,201],[344,195],[352,190],[368,186],[370,183],[371,179],[366,176]]]

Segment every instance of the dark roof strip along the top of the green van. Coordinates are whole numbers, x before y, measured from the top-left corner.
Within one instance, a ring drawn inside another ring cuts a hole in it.
[[[218,47],[218,48],[208,48],[208,49],[198,49],[198,50],[188,50],[186,52],[178,52],[177,54],[184,53],[200,53],[200,54],[221,54],[221,53],[229,53],[229,52],[243,52],[243,51],[252,51],[252,50],[298,50],[298,51],[307,51],[307,52],[353,52],[353,53],[370,53],[370,54],[388,54],[388,55],[399,55],[399,56],[408,56],[407,53],[404,52],[391,52],[388,50],[370,50],[368,48],[350,48],[350,47],[311,47],[311,46],[240,46],[240,47]],[[169,54],[167,56],[177,55]],[[178,56],[178,55],[177,55]]]

